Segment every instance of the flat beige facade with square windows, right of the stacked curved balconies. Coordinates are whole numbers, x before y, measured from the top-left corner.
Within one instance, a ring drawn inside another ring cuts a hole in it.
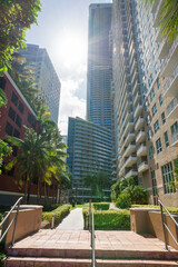
[[[160,199],[167,206],[177,206],[178,191],[170,182],[174,181],[176,160],[178,164],[178,38],[172,42],[161,38],[156,23],[161,8],[161,0],[154,2],[149,13],[141,2],[137,4],[147,89],[144,102],[147,162],[138,170],[151,202],[157,204]]]

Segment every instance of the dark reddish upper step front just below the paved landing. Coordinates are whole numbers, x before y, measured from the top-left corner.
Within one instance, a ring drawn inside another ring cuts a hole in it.
[[[91,249],[72,248],[8,248],[8,256],[14,257],[60,257],[60,258],[90,258]],[[178,251],[166,250],[130,250],[130,249],[96,249],[99,259],[171,259],[178,260]]]

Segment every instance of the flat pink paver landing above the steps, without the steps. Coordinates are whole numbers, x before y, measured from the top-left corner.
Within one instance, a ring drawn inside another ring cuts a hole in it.
[[[49,248],[49,249],[90,249],[90,233],[88,230],[39,230],[17,244],[16,248]],[[165,244],[157,238],[146,238],[134,231],[96,231],[96,249],[165,251]],[[170,248],[171,251],[176,251]]]

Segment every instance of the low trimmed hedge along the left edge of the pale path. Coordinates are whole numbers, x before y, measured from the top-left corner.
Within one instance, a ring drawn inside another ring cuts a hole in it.
[[[42,212],[42,220],[52,221],[52,214],[55,214],[55,226],[59,225],[62,219],[70,212],[70,205],[59,206],[50,212]]]

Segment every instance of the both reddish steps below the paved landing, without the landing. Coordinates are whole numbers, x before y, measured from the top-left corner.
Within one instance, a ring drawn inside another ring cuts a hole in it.
[[[97,267],[178,266],[177,251],[96,249]],[[9,248],[6,267],[91,267],[91,249]]]

